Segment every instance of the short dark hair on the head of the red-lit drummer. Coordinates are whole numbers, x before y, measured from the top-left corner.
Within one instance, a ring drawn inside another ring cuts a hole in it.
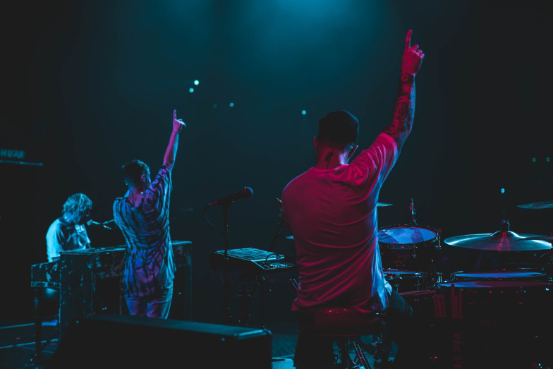
[[[357,143],[359,121],[347,110],[335,110],[319,121],[317,140],[336,145]]]

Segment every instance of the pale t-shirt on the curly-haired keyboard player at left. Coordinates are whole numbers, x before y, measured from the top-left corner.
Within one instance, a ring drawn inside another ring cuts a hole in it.
[[[90,245],[86,228],[83,224],[66,224],[58,218],[54,220],[46,234],[48,261],[59,258],[60,251],[80,250]]]

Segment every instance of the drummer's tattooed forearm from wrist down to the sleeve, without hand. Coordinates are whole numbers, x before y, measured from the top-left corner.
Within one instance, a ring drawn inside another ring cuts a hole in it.
[[[411,133],[414,113],[415,79],[413,75],[403,73],[399,81],[398,97],[394,104],[394,117],[391,120],[391,125],[384,129],[384,133],[394,138],[399,149]]]

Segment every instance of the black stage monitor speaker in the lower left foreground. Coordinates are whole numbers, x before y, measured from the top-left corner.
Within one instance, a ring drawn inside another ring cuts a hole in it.
[[[73,321],[47,368],[271,369],[267,329],[97,315]]]

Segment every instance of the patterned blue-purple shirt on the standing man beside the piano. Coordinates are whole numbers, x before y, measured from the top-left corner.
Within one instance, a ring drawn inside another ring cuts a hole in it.
[[[169,234],[171,171],[159,169],[138,206],[124,198],[114,202],[114,219],[125,236],[125,297],[157,294],[173,285],[175,263]]]

